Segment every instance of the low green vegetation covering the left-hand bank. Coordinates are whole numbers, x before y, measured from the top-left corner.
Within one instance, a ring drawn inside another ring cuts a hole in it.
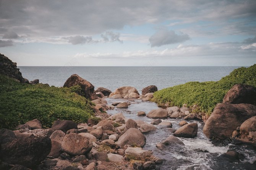
[[[44,128],[57,119],[86,122],[94,115],[94,104],[76,94],[79,91],[79,86],[29,85],[0,75],[0,128],[14,129],[33,119],[40,120]]]

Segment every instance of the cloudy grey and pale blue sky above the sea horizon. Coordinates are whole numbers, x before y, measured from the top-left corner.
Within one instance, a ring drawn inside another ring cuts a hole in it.
[[[0,0],[18,66],[251,66],[256,0]]]

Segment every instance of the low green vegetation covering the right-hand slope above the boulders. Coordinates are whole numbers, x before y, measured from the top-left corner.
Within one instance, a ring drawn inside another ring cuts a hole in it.
[[[200,112],[211,114],[215,105],[221,103],[227,91],[235,84],[242,83],[256,87],[256,64],[240,67],[216,82],[188,82],[165,88],[154,93],[153,101],[161,104],[170,102],[170,106],[197,104]]]

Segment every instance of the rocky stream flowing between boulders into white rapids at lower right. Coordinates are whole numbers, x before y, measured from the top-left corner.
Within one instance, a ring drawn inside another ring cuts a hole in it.
[[[109,105],[114,102],[127,102],[128,99],[112,99],[106,98]],[[146,114],[153,110],[159,109],[156,103],[150,101],[142,101],[134,99],[130,102],[128,108],[115,108],[108,110],[110,115],[122,112],[127,119],[143,120],[150,123],[152,119],[146,116],[138,116],[139,111],[144,111]],[[172,128],[178,129],[178,125],[183,119],[162,119],[172,123]],[[157,165],[161,170],[256,170],[256,165],[253,162],[256,160],[256,151],[249,145],[233,145],[229,144],[225,147],[217,147],[211,143],[203,133],[203,121],[186,120],[188,123],[198,123],[198,133],[196,138],[179,138],[185,146],[167,146],[165,150],[156,148],[156,144],[165,140],[172,135],[168,128],[157,127],[156,131],[145,133],[146,145],[145,150],[151,150],[154,156],[164,159],[163,164]],[[219,157],[228,149],[233,149],[245,156],[240,162],[229,162],[226,159]]]

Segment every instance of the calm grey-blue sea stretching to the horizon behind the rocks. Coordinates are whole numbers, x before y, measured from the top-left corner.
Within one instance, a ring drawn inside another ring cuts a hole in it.
[[[44,67],[19,66],[29,81],[63,86],[72,74],[91,82],[95,89],[105,87],[114,91],[118,87],[132,86],[139,93],[144,87],[156,85],[158,90],[190,81],[216,81],[240,66],[201,67]]]

